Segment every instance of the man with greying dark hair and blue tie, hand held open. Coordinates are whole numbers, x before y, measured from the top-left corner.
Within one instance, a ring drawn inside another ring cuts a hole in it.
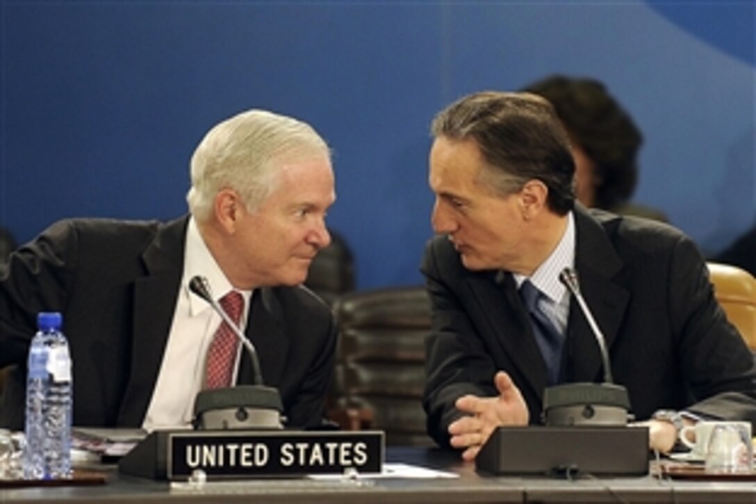
[[[596,340],[559,272],[575,269],[650,446],[698,416],[756,421],[756,369],[685,235],[575,203],[568,135],[526,93],[461,98],[432,123],[422,271],[432,301],[429,434],[473,459],[500,425],[536,424],[544,388],[600,381]],[[684,418],[683,418],[684,417]]]

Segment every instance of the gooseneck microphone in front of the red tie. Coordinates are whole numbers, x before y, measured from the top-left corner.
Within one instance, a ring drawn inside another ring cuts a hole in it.
[[[212,309],[228,324],[252,359],[253,385],[200,390],[194,400],[194,428],[283,428],[283,404],[278,390],[265,387],[260,371],[257,350],[228,313],[215,301],[207,278],[196,275],[189,281],[189,290],[206,300]]]

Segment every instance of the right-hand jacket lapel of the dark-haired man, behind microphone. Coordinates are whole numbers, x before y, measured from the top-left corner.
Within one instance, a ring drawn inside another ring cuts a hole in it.
[[[579,205],[575,206],[575,226],[578,244],[575,269],[581,293],[603,332],[607,349],[611,350],[630,300],[629,291],[617,278],[622,261],[600,222]],[[568,352],[570,381],[602,378],[599,346],[575,300],[570,303]]]

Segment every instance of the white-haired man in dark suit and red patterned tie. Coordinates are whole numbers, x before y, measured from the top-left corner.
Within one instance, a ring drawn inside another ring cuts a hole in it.
[[[330,242],[324,220],[335,198],[318,133],[249,110],[213,127],[194,151],[190,214],[69,219],[46,229],[0,269],[0,367],[16,365],[0,425],[23,426],[26,355],[40,311],[63,313],[74,425],[187,427],[198,391],[251,383],[249,355],[189,290],[195,275],[246,327],[287,426],[320,425],[336,327],[301,284]]]

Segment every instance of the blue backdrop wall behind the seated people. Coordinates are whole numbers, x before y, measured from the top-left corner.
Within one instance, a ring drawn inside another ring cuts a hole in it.
[[[169,218],[206,129],[262,107],[332,145],[358,286],[421,282],[428,126],[460,95],[602,79],[643,129],[636,200],[702,248],[756,219],[754,3],[2,2],[0,224]]]

